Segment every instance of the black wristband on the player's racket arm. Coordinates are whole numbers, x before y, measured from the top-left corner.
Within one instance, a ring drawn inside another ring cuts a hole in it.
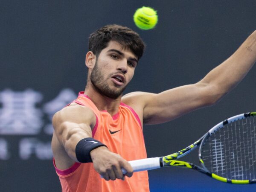
[[[105,146],[103,143],[101,143],[98,140],[95,140],[91,137],[84,138],[80,140],[76,145],[76,159],[80,163],[91,163],[92,158],[90,157],[90,151],[92,151],[95,148]]]

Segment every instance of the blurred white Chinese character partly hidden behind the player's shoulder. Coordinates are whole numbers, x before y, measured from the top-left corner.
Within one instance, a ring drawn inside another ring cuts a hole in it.
[[[73,90],[67,88],[62,90],[58,96],[56,96],[52,101],[49,101],[44,105],[44,112],[48,114],[48,118],[50,123],[48,123],[44,127],[44,132],[46,134],[52,134],[53,128],[52,128],[52,116],[62,108],[64,108],[67,104],[72,102],[74,99],[76,99],[76,94]]]

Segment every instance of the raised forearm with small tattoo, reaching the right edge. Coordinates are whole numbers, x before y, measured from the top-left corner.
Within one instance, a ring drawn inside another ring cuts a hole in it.
[[[235,87],[256,62],[256,31],[253,32],[236,52],[215,67],[200,82],[212,85],[222,96]]]

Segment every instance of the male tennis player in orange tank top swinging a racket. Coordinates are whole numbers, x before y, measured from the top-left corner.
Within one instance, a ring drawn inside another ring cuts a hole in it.
[[[52,120],[54,166],[63,192],[148,192],[147,171],[133,173],[128,163],[146,158],[143,125],[218,102],[255,63],[256,31],[195,84],[123,96],[144,47],[136,32],[119,25],[90,35],[86,88]]]

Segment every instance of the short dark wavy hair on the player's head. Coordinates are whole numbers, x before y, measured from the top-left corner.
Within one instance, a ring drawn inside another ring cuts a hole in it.
[[[97,57],[102,49],[108,47],[109,41],[116,41],[125,49],[131,50],[138,60],[142,57],[145,43],[137,32],[120,25],[106,25],[96,30],[89,36],[89,51],[92,51]]]

